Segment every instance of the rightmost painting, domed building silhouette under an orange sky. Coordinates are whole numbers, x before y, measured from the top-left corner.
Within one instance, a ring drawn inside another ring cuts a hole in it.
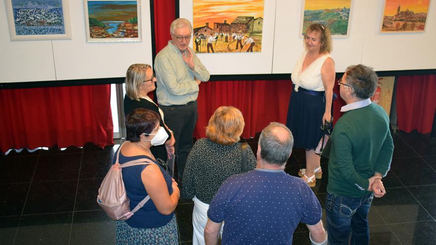
[[[424,32],[430,0],[386,0],[382,33]]]

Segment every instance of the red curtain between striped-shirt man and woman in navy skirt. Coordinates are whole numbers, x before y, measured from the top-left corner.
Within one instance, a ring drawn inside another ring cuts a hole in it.
[[[262,131],[270,122],[286,122],[290,80],[215,81],[202,83],[198,94],[199,119],[194,137],[206,137],[209,118],[221,105],[232,105],[244,115],[242,137]]]

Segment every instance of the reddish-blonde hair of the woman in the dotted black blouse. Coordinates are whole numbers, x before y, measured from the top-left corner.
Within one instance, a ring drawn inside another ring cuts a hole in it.
[[[206,136],[220,145],[232,145],[240,140],[244,131],[244,117],[233,106],[220,106],[209,119]]]

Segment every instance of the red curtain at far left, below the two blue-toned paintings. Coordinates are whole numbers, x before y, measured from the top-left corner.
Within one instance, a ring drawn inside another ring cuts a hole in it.
[[[113,145],[110,85],[0,90],[0,152]]]

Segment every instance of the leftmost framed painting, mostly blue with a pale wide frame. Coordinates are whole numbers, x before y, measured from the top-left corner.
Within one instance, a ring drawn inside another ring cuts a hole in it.
[[[11,41],[71,39],[68,0],[5,0]]]

